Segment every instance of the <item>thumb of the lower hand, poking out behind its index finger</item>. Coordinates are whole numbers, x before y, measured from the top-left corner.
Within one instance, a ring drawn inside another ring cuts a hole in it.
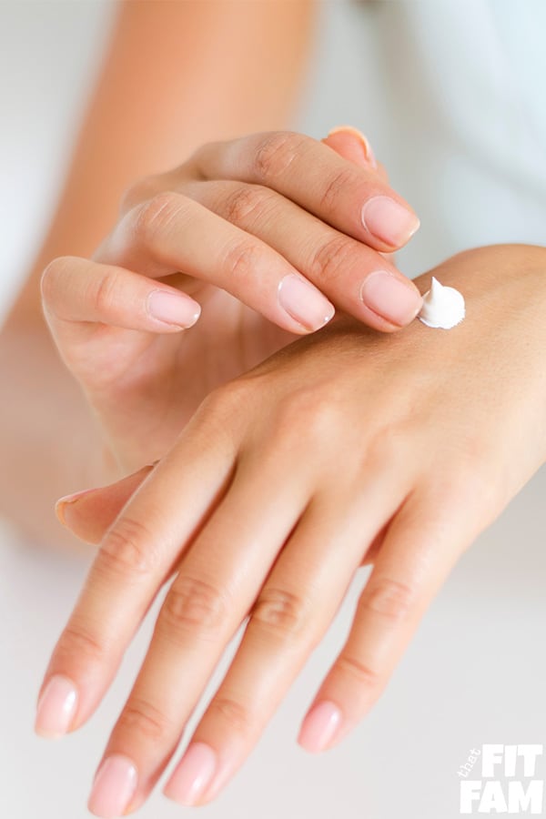
[[[58,520],[81,541],[100,543],[126,501],[154,469],[157,462],[156,460],[152,464],[147,464],[106,486],[59,498],[55,505]]]

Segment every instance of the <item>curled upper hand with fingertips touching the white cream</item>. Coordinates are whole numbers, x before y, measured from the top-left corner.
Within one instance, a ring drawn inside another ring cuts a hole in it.
[[[358,137],[324,142],[278,132],[202,147],[127,191],[92,260],[45,268],[45,318],[116,477],[165,454],[210,389],[321,327],[330,298],[385,331],[420,309],[418,290],[382,255],[419,220]],[[370,278],[379,269],[388,275]],[[198,302],[203,315],[181,333]]]

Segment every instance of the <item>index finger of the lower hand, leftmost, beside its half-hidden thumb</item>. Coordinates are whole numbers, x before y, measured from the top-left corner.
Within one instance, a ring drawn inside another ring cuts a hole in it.
[[[206,421],[197,411],[106,532],[45,671],[37,733],[58,736],[86,722],[161,583],[226,491],[234,442],[224,411],[210,399],[207,407]]]

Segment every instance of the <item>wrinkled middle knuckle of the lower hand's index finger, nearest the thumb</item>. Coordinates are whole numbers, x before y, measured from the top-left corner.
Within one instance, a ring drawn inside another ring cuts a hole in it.
[[[106,534],[99,558],[108,573],[147,575],[159,562],[157,537],[141,521],[124,516]]]

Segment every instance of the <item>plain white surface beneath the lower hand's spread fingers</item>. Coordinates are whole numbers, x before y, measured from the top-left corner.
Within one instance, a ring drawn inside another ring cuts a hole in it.
[[[368,572],[359,570],[327,637],[254,753],[217,800],[199,808],[199,815],[455,819],[456,773],[470,748],[544,743],[545,493],[546,470],[541,470],[461,558],[369,716],[339,747],[308,754],[296,743],[299,723],[348,632]],[[75,602],[86,561],[45,553],[7,533],[0,546],[5,657],[0,815],[83,819],[94,766],[133,682],[155,610],[90,723],[57,743],[46,743],[32,733],[35,694]],[[218,665],[198,713],[237,642],[238,637]],[[187,738],[195,724],[194,718]],[[540,772],[546,777],[543,760]],[[138,815],[163,819],[184,810],[157,790]]]

